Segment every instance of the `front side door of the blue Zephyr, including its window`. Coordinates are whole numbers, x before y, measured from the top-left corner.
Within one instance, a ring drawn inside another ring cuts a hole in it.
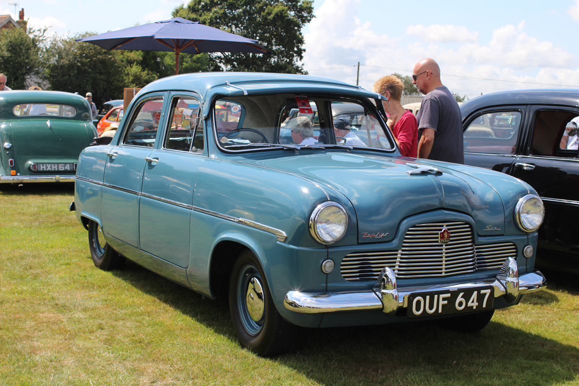
[[[163,141],[144,168],[139,207],[141,250],[182,268],[189,265],[193,186],[205,158],[199,106],[194,94],[171,94]]]

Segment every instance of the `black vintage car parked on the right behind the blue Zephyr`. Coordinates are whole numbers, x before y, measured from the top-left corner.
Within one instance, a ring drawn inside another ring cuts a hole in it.
[[[541,196],[537,265],[579,274],[579,150],[571,145],[577,130],[570,130],[579,117],[579,90],[492,93],[460,111],[464,162],[517,177]]]

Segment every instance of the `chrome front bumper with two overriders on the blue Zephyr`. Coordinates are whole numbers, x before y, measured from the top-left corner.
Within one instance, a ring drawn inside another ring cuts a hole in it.
[[[494,287],[494,297],[502,296],[507,301],[514,301],[519,294],[544,289],[547,287],[547,281],[539,271],[519,277],[516,261],[512,257],[505,260],[499,275],[494,279],[401,289],[397,288],[394,271],[384,268],[372,290],[321,294],[290,291],[285,295],[284,305],[290,311],[302,314],[381,309],[387,315],[394,315],[398,308],[408,307],[408,296],[412,293],[485,286]]]

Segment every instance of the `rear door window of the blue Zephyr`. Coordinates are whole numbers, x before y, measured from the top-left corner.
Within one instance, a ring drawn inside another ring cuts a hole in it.
[[[131,116],[131,123],[124,144],[154,147],[162,107],[162,97],[141,103]]]

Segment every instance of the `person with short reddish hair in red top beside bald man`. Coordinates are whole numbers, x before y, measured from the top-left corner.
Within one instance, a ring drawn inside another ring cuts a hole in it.
[[[404,83],[395,75],[387,75],[374,83],[373,90],[387,99],[387,101],[382,101],[382,105],[388,114],[387,125],[394,133],[400,154],[416,158],[418,125],[414,114],[402,107],[400,103]]]

